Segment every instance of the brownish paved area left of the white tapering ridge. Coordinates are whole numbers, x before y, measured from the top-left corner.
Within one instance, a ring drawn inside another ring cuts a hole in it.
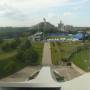
[[[32,74],[41,69],[41,66],[28,66],[22,70],[0,80],[0,82],[21,82],[26,81]]]

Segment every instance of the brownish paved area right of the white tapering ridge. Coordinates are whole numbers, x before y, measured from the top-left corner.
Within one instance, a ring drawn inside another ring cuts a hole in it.
[[[59,76],[64,77],[64,81],[69,81],[82,75],[69,66],[54,66],[53,69],[58,72]]]

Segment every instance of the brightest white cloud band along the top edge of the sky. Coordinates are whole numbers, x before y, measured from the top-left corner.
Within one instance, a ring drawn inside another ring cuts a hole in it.
[[[70,0],[3,0],[0,4],[6,3],[16,8],[46,8],[62,5],[69,1]]]

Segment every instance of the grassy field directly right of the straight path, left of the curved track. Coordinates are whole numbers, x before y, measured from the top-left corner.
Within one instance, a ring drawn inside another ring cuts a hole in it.
[[[51,43],[53,64],[58,64],[63,58],[68,58],[78,46],[82,46],[82,44],[79,42],[55,42],[53,45],[53,43]]]

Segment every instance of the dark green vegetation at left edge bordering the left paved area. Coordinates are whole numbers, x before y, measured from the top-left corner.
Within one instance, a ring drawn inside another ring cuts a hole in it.
[[[11,75],[25,66],[23,63],[18,63],[15,56],[0,60],[0,78]]]

